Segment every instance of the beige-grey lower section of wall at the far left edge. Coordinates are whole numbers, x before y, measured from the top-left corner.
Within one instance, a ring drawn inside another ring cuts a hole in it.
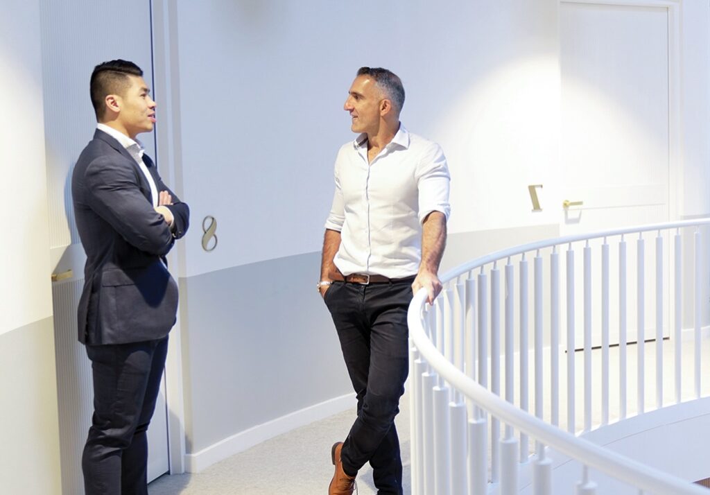
[[[0,334],[0,491],[61,494],[52,318]]]

